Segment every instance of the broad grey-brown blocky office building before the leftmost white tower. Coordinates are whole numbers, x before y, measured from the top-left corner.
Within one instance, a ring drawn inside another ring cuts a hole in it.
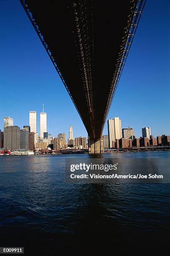
[[[20,127],[7,126],[4,128],[4,148],[20,149]]]

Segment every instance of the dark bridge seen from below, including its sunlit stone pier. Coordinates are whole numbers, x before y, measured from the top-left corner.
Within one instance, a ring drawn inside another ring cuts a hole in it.
[[[89,136],[102,130],[146,0],[20,0]]]

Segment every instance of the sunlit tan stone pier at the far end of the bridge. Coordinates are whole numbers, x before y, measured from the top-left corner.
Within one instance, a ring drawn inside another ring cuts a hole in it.
[[[88,138],[88,154],[100,154],[104,153],[103,138],[91,139]]]

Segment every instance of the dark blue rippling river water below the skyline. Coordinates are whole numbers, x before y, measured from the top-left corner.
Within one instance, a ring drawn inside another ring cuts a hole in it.
[[[170,184],[66,183],[65,159],[88,157],[0,156],[0,246],[26,255],[169,255]],[[170,171],[170,151],[97,157],[161,159]]]

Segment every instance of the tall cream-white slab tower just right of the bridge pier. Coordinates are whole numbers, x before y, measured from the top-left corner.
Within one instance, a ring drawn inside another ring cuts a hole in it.
[[[107,120],[109,148],[112,148],[112,141],[122,138],[121,120],[118,117]]]

